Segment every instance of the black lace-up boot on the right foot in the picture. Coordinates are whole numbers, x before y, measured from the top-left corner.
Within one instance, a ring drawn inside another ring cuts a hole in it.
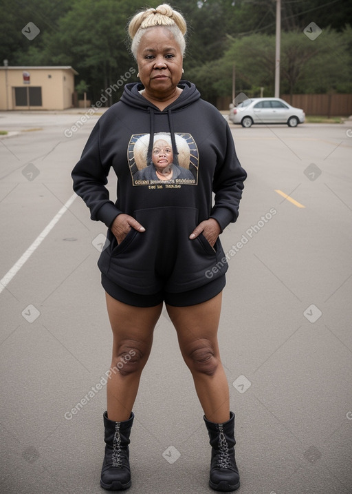
[[[215,424],[206,419],[212,460],[210,464],[209,485],[214,491],[230,492],[239,488],[239,469],[234,459],[234,413],[230,412],[230,420],[223,424]]]

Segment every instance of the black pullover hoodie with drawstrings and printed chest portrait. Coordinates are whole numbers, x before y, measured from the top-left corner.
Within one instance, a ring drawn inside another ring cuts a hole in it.
[[[246,178],[223,116],[194,84],[181,81],[179,87],[177,100],[160,111],[140,94],[142,84],[127,84],[96,123],[72,172],[91,219],[110,227],[123,212],[146,229],[131,229],[119,245],[108,229],[98,261],[111,281],[138,294],[188,291],[206,285],[210,272],[212,280],[225,273],[219,238],[213,248],[202,234],[189,236],[208,218],[221,231],[236,221]],[[153,164],[158,141],[173,158],[167,180]],[[115,204],[105,187],[111,167],[118,176]]]

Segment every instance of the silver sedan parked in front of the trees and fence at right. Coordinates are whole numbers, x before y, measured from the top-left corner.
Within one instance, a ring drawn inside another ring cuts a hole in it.
[[[251,127],[253,123],[287,123],[297,127],[305,121],[305,112],[280,98],[250,98],[238,105],[230,105],[229,120]]]

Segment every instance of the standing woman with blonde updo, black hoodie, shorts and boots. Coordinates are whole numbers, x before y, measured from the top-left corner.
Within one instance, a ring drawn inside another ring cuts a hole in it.
[[[204,411],[212,446],[210,486],[234,491],[234,413],[217,342],[228,267],[219,234],[238,216],[246,174],[223,116],[200,99],[195,85],[181,81],[181,14],[166,4],[144,10],[133,17],[129,33],[141,82],[127,84],[120,101],[100,118],[72,172],[91,218],[108,227],[98,266],[113,331],[111,369],[118,372],[111,372],[107,384],[100,484],[111,491],[131,486],[132,409],[165,302]],[[153,136],[163,132],[170,133],[174,156],[177,136],[186,139],[196,182],[134,183],[136,146],[144,143],[150,163]],[[104,187],[111,167],[118,176],[115,204]]]

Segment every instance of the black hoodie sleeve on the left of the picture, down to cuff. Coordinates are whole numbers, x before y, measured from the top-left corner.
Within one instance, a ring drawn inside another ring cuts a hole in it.
[[[102,163],[100,155],[100,123],[96,123],[83,150],[80,161],[72,171],[74,192],[85,201],[91,219],[102,221],[109,228],[122,211],[109,200],[107,176],[111,164]]]

